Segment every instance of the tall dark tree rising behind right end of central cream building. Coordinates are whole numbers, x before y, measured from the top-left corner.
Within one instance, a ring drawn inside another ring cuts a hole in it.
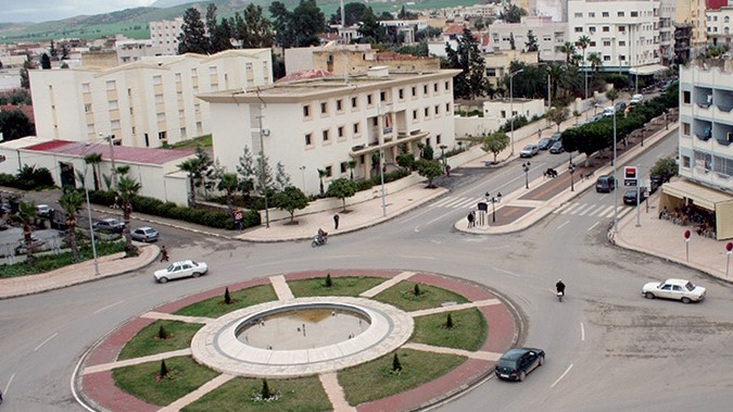
[[[453,78],[455,99],[473,99],[483,96],[488,80],[484,77],[484,60],[479,52],[479,43],[468,27],[464,27],[456,50],[445,46],[448,68],[460,68],[462,73]]]

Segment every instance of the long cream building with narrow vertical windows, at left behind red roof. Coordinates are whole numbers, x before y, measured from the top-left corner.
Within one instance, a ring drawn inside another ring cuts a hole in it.
[[[112,68],[29,71],[36,133],[161,147],[211,133],[208,104],[195,95],[271,84],[269,49],[143,58]]]

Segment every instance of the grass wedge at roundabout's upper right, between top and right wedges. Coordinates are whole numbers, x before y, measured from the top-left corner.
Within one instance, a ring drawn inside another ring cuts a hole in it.
[[[420,295],[415,296],[415,285],[418,285]],[[403,280],[391,288],[383,290],[375,300],[389,303],[403,311],[418,311],[421,309],[438,308],[444,302],[466,303],[468,299],[450,290]]]

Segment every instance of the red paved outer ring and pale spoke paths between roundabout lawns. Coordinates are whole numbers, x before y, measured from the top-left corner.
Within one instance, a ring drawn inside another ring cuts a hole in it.
[[[291,273],[287,275],[276,275],[267,278],[257,278],[248,282],[229,285],[230,292],[257,286],[271,285],[278,297],[278,302],[287,304],[287,302],[294,302],[306,298],[295,299],[288,287],[288,282],[325,277],[330,274],[336,280],[338,277],[345,276],[370,276],[381,277],[384,279],[376,287],[364,291],[358,298],[347,298],[345,301],[364,302],[369,301],[371,305],[384,309],[384,303],[379,303],[371,300],[374,296],[380,291],[399,284],[402,280],[440,287],[462,295],[468,300],[468,303],[447,303],[439,308],[431,308],[427,310],[419,310],[413,312],[403,312],[409,320],[400,321],[401,323],[412,323],[414,317],[429,315],[433,313],[444,313],[468,308],[477,308],[486,320],[489,325],[489,334],[486,340],[483,342],[478,351],[457,350],[452,348],[432,347],[422,344],[415,344],[406,341],[404,333],[403,338],[395,340],[395,345],[400,348],[413,349],[432,353],[452,353],[466,357],[466,361],[458,367],[450,371],[447,374],[439,377],[432,382],[424,384],[417,388],[390,396],[380,400],[362,403],[355,407],[349,405],[344,399],[343,389],[339,386],[336,378],[334,371],[319,370],[317,362],[314,362],[312,371],[313,375],[317,375],[324,386],[326,394],[333,405],[334,411],[404,411],[414,410],[433,404],[435,402],[445,400],[456,394],[459,394],[472,385],[481,382],[486,376],[490,376],[493,371],[494,363],[498,357],[508,348],[516,345],[520,336],[520,325],[518,315],[515,313],[510,304],[507,304],[497,294],[488,289],[486,287],[467,280],[452,278],[447,276],[419,273],[419,272],[404,272],[404,271],[369,271],[369,270],[329,270],[329,271],[312,271]],[[189,280],[195,282],[195,280]],[[188,323],[199,323],[204,325],[212,325],[219,320],[233,316],[232,313],[223,315],[218,320],[208,317],[191,317],[180,316],[174,314],[181,308],[205,300],[213,297],[222,297],[224,288],[216,288],[206,290],[187,298],[172,301],[154,308],[148,313],[143,313],[138,317],[127,321],[116,330],[109,334],[101,339],[81,360],[80,367],[74,382],[76,389],[81,395],[81,398],[91,408],[104,411],[174,411],[194,402],[202,396],[215,390],[217,387],[228,382],[238,375],[237,371],[224,371],[220,375],[201,386],[199,389],[188,394],[184,398],[161,408],[143,402],[126,392],[123,392],[114,385],[112,378],[112,371],[131,364],[139,364],[146,362],[154,362],[162,359],[173,357],[191,357],[195,350],[186,348],[166,353],[159,353],[144,358],[130,359],[118,361],[117,357],[122,348],[143,327],[150,325],[156,320],[175,320]],[[344,298],[332,298],[333,300],[341,300]],[[276,303],[267,303],[276,304]],[[389,307],[389,305],[384,305]],[[394,309],[395,310],[395,309]],[[400,311],[402,312],[402,311]],[[408,325],[400,325],[408,326]],[[206,327],[206,326],[204,326]],[[405,328],[406,332],[412,330],[412,325]],[[409,334],[407,333],[407,336]],[[393,348],[384,348],[389,352]],[[205,357],[205,355],[204,355]],[[366,361],[366,360],[365,360]],[[206,362],[202,362],[206,363]],[[345,367],[345,366],[344,366]],[[306,370],[307,372],[307,370]]]

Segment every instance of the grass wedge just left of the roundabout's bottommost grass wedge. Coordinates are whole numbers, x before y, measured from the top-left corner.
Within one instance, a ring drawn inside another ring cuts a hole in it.
[[[218,373],[189,357],[165,360],[168,377],[160,379],[161,362],[119,367],[112,371],[115,385],[143,401],[165,407],[215,378]]]

